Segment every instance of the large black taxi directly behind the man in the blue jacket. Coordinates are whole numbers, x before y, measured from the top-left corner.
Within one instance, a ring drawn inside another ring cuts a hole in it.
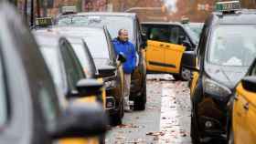
[[[70,9],[63,11],[56,19],[58,26],[105,26],[110,38],[117,37],[122,28],[128,30],[129,40],[134,44],[137,52],[137,67],[132,75],[131,100],[134,110],[144,110],[146,103],[146,62],[145,41],[142,35],[139,19],[133,13],[76,13]]]

